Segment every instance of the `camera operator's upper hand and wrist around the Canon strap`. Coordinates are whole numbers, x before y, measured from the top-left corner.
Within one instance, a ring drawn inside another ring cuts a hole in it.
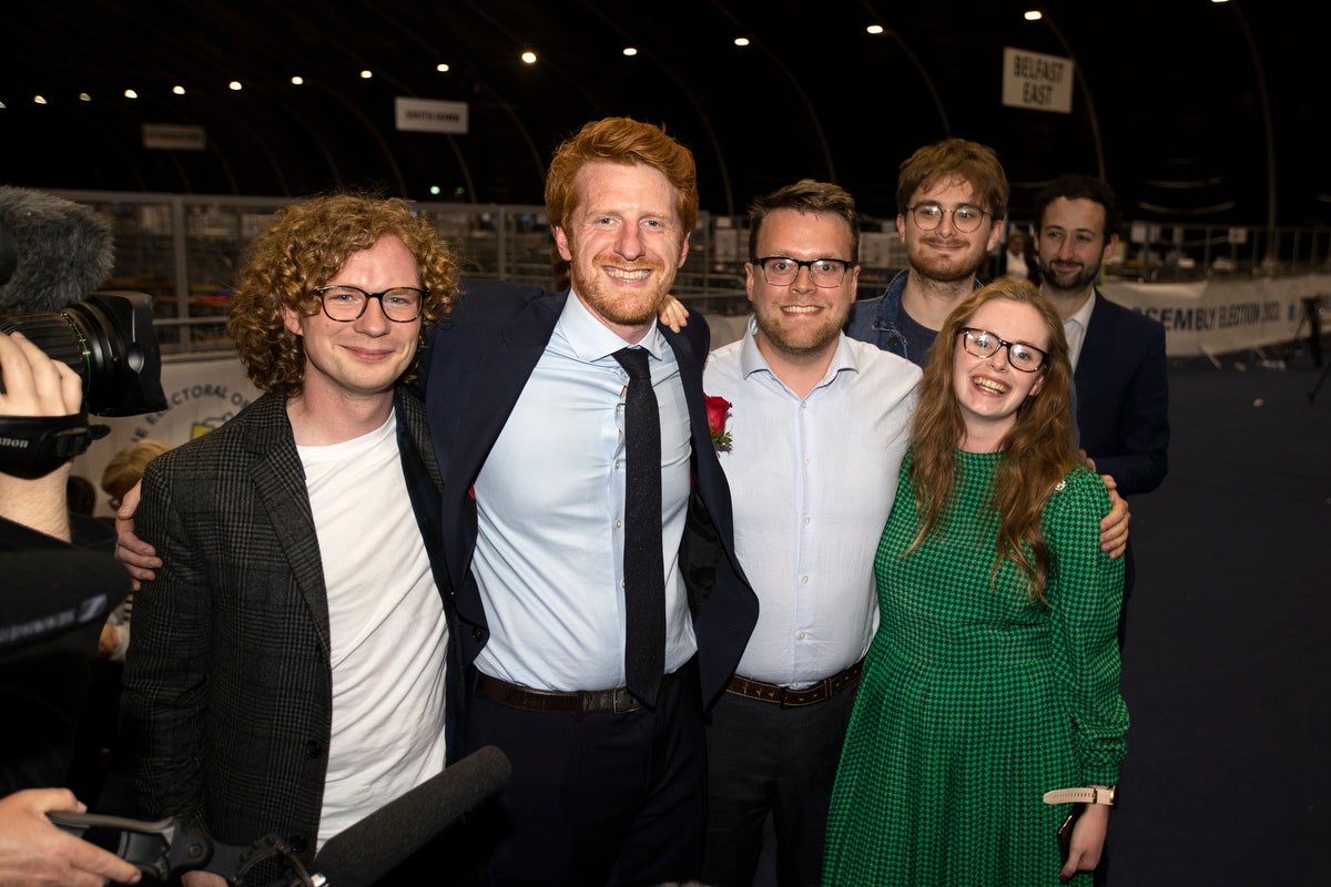
[[[0,416],[68,416],[83,408],[83,380],[21,332],[0,332]],[[45,477],[0,473],[0,517],[69,541],[65,463]]]

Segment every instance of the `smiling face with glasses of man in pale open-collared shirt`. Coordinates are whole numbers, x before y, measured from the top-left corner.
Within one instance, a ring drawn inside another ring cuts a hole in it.
[[[851,229],[843,218],[831,213],[773,210],[759,230],[757,255],[849,262]],[[829,356],[855,302],[860,267],[848,269],[833,287],[815,286],[807,267],[801,267],[795,281],[784,286],[768,283],[763,269],[752,262],[745,267],[748,297],[757,320],[757,346],[768,362]]]

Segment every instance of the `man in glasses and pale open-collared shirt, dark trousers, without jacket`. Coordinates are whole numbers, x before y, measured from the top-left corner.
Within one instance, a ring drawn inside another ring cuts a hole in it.
[[[877,625],[873,553],[892,508],[920,370],[841,332],[860,219],[837,185],[749,207],[748,331],[703,376],[731,403],[719,452],[757,625],[707,727],[701,880],[749,887],[764,821],[777,883],[813,886],[836,762]]]

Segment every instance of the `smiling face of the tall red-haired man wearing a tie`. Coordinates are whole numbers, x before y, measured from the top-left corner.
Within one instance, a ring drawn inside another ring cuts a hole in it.
[[[638,342],[688,254],[675,189],[651,166],[598,162],[578,172],[576,193],[567,227],[555,226],[574,293],[620,338]]]

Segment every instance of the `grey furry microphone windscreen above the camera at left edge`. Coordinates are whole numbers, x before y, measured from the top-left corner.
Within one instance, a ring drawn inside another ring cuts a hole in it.
[[[13,238],[13,274],[0,314],[59,311],[88,298],[110,274],[110,222],[91,206],[27,188],[0,186],[0,229]]]

